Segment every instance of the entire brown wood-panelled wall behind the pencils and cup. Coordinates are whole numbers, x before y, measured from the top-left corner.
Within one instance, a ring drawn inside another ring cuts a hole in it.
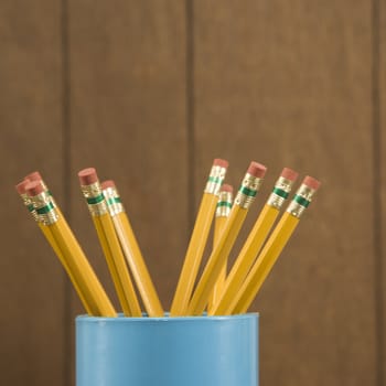
[[[251,310],[269,386],[385,386],[380,0],[0,2],[0,384],[74,384],[79,302],[14,184],[40,170],[109,293],[76,173],[120,187],[169,305],[211,162],[323,182]]]

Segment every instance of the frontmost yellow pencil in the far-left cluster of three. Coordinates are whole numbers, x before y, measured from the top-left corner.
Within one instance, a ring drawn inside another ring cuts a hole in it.
[[[116,317],[111,302],[44,183],[29,182],[25,191],[35,210],[40,228],[68,272],[87,312],[93,315]]]

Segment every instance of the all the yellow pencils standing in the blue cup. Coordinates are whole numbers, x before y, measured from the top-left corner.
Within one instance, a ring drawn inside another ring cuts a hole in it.
[[[221,159],[215,159],[211,168],[171,317],[202,315],[205,311],[208,315],[247,312],[320,185],[315,179],[305,176],[277,222],[298,178],[297,172],[285,168],[228,270],[228,257],[267,169],[251,162],[233,200],[233,187],[223,184],[227,168],[228,162]],[[141,318],[141,300],[147,315],[162,317],[162,304],[116,184],[111,180],[100,183],[94,168],[82,170],[78,178],[124,315]],[[117,317],[41,174],[26,175],[17,191],[68,275],[86,312]],[[212,251],[197,278],[212,223]]]

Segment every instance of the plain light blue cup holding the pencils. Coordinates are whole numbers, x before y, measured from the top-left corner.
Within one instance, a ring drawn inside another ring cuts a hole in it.
[[[258,386],[258,314],[76,318],[77,386]]]

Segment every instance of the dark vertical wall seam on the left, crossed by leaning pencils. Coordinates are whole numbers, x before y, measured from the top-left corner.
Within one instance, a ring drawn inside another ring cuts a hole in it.
[[[69,10],[68,0],[62,0],[61,3],[61,36],[62,36],[62,190],[63,190],[63,212],[67,219],[71,216],[71,78],[69,78]],[[71,330],[71,286],[66,274],[63,271],[63,375],[62,384],[68,386],[72,384],[72,330]]]

